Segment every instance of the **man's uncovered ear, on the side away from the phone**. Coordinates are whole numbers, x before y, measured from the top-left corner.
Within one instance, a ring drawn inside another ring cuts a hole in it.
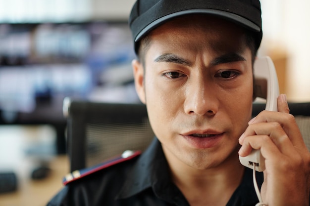
[[[138,93],[140,101],[145,104],[146,99],[145,99],[145,88],[144,88],[145,83],[144,83],[143,65],[137,59],[134,59],[131,62],[131,65],[132,65],[133,73],[134,73],[136,91]]]

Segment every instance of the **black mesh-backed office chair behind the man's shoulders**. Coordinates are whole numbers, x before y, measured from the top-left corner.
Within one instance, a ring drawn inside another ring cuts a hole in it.
[[[310,150],[310,102],[289,103]],[[253,104],[253,116],[265,104]],[[70,170],[97,165],[126,150],[144,151],[154,138],[143,104],[111,104],[64,99]]]

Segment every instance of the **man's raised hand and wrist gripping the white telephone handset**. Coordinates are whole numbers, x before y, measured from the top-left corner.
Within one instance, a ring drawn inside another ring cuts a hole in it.
[[[260,150],[266,169],[261,187],[263,203],[268,206],[309,206],[310,153],[286,96],[278,97],[278,112],[262,111],[249,122],[240,137],[239,155]]]

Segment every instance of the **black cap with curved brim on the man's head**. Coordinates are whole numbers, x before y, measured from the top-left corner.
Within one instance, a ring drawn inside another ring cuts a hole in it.
[[[210,14],[237,23],[262,38],[259,0],[137,0],[129,17],[135,51],[138,41],[171,18],[186,14]]]

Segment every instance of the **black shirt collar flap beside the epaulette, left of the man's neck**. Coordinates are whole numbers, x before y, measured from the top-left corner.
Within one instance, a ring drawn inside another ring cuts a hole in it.
[[[166,202],[187,203],[181,191],[171,182],[169,166],[156,137],[133,166],[116,199],[129,198],[150,188]]]

